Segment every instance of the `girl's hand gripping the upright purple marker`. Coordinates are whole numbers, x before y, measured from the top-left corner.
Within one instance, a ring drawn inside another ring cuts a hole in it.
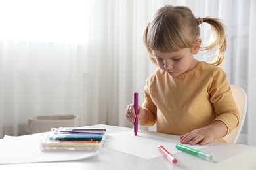
[[[125,109],[125,116],[126,119],[131,123],[134,124],[135,122],[135,110],[133,104],[130,104]],[[138,106],[138,122],[140,125],[144,125],[148,122],[148,111],[143,109],[142,107]]]

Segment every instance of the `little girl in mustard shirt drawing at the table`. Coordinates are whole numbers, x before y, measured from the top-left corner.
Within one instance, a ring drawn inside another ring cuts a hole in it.
[[[211,25],[213,42],[203,50],[217,49],[211,63],[198,61],[200,24]],[[226,73],[218,67],[226,50],[224,25],[214,18],[195,18],[188,7],[161,7],[144,30],[144,44],[159,67],[146,80],[138,121],[156,131],[180,135],[182,144],[208,144],[238,126],[240,116]],[[135,122],[133,104],[125,110]]]

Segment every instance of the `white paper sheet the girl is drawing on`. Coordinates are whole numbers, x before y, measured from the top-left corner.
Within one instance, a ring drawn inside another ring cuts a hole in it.
[[[171,154],[181,152],[175,148],[179,140],[168,139],[147,133],[138,133],[134,135],[133,131],[125,131],[118,133],[110,133],[106,135],[103,147],[138,156],[144,159],[156,158],[163,156],[158,150],[158,146],[162,145]],[[189,146],[194,149],[205,148],[206,146],[194,145]]]

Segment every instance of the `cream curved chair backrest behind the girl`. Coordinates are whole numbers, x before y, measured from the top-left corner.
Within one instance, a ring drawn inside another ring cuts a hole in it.
[[[226,135],[224,137],[224,140],[228,143],[236,143],[244,125],[244,120],[247,112],[247,94],[239,86],[230,85],[230,88],[234,101],[236,102],[236,105],[240,112],[240,124],[231,133]]]

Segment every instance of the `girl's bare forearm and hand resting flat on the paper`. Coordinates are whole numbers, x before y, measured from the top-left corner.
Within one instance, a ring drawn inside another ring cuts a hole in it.
[[[223,122],[216,120],[208,126],[201,129],[195,129],[190,133],[182,135],[180,139],[182,144],[188,143],[193,145],[199,143],[200,145],[204,145],[211,143],[214,139],[224,137],[227,132],[228,128],[226,125]]]

